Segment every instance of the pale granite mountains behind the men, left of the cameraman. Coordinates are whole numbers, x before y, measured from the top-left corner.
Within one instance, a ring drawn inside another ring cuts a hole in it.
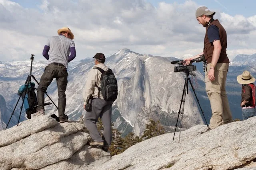
[[[136,135],[140,135],[150,117],[161,119],[164,125],[175,125],[184,78],[183,73],[173,72],[173,65],[168,59],[121,49],[108,56],[105,64],[113,70],[118,80],[118,99],[112,107],[112,121],[118,130],[124,134],[133,131]],[[36,61],[35,57],[32,74],[38,82],[45,66],[47,66],[46,61]],[[85,113],[82,107],[82,89],[92,66],[94,66],[93,59],[68,64],[66,114],[70,119],[80,119],[80,116]],[[18,88],[25,83],[29,74],[30,61],[0,62],[0,71],[3,73],[0,76],[0,91],[6,103],[14,107],[18,100]],[[13,74],[14,71],[15,74]],[[35,81],[32,79],[32,82]],[[57,105],[56,80],[50,84],[47,93]],[[187,100],[184,110],[184,127],[202,124],[202,117],[192,93],[187,96]],[[21,102],[17,107],[18,113],[15,112],[14,115],[19,114],[20,104]],[[46,106],[45,109],[47,114],[58,115],[54,105]],[[154,114],[152,114],[153,110]],[[9,119],[11,109],[8,112],[5,114],[6,119]],[[23,110],[21,121],[24,119]],[[17,123],[12,118],[11,126],[15,125],[15,122]]]

